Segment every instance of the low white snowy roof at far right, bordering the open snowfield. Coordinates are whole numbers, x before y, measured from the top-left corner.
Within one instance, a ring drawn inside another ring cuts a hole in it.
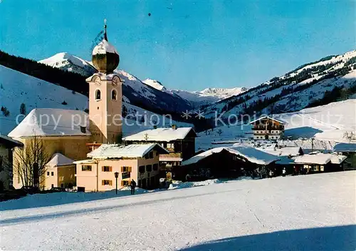
[[[333,164],[340,164],[346,158],[347,157],[344,155],[336,155],[331,153],[305,154],[295,157],[295,163],[325,165],[331,162]]]

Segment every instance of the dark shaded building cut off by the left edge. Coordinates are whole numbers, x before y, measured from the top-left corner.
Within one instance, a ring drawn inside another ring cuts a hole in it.
[[[0,134],[0,192],[12,187],[13,148],[23,143]]]

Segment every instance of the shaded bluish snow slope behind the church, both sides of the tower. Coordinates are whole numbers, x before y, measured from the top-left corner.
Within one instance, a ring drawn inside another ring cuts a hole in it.
[[[19,116],[21,103],[25,105],[26,114],[33,108],[78,109],[81,111],[88,108],[87,96],[4,66],[0,66],[0,81],[0,107],[3,106],[9,111],[8,116],[4,116],[4,113],[0,112],[1,134],[6,135],[16,127],[16,118],[18,118],[18,122],[23,119],[23,116]],[[163,116],[159,114],[146,111],[130,103],[124,102],[123,105],[127,108],[127,118],[130,120],[124,123],[122,129],[125,136],[152,128],[152,123],[166,127],[172,124],[179,127],[192,126],[189,123],[171,121],[169,118],[163,119]],[[141,119],[142,116],[144,121]],[[135,122],[137,118],[140,119],[140,123]]]

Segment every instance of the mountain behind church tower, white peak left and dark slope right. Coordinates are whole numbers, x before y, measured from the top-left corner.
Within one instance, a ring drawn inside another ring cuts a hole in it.
[[[85,61],[69,53],[57,53],[51,58],[39,61],[39,63],[80,73],[85,77],[91,76],[96,71],[90,61]],[[150,84],[143,83],[139,78],[123,70],[117,69],[115,72],[125,81],[122,86],[122,95],[127,103],[158,113],[181,112],[192,108],[189,101],[184,98],[162,89],[159,90],[157,88],[158,81],[156,81],[156,86],[152,87]],[[147,83],[152,83],[153,85],[155,81],[147,80]]]

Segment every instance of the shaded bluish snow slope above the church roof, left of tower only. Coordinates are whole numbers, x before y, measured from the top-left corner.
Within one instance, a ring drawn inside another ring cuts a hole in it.
[[[7,117],[0,113],[2,134],[8,134],[23,119],[19,114],[21,103],[26,106],[26,114],[33,108],[78,108],[82,111],[88,108],[88,97],[4,66],[0,66],[0,82],[3,86],[0,88],[0,106],[10,111]],[[63,101],[67,104],[63,105]]]

